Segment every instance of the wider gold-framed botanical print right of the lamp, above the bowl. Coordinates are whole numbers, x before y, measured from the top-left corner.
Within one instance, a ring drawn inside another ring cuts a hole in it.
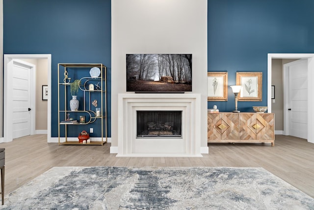
[[[262,72],[236,72],[236,85],[242,86],[238,101],[262,101]]]

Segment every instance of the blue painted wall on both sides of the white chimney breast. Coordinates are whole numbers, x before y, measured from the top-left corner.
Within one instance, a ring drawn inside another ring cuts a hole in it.
[[[242,112],[267,105],[267,53],[314,53],[314,0],[208,0],[208,71],[262,72],[261,102],[238,102]],[[110,0],[3,0],[3,53],[52,54],[52,137],[57,136],[57,63],[102,62],[108,67],[111,120]],[[208,102],[220,111],[227,102]],[[110,123],[108,136],[111,136]]]

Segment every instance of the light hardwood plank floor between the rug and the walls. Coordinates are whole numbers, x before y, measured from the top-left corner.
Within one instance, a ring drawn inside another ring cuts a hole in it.
[[[33,135],[2,143],[5,148],[5,194],[54,166],[206,166],[262,167],[314,197],[314,144],[276,135],[270,144],[209,144],[201,158],[115,157],[104,146],[58,146],[46,135]]]

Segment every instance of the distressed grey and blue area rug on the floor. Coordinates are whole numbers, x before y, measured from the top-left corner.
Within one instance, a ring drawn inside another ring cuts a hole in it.
[[[54,167],[5,196],[5,210],[313,210],[262,168]]]

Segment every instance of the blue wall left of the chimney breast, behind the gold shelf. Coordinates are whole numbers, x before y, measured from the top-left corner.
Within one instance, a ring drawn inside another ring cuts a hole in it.
[[[3,33],[4,54],[52,54],[52,137],[58,136],[57,64],[105,64],[111,136],[110,0],[3,0]]]

